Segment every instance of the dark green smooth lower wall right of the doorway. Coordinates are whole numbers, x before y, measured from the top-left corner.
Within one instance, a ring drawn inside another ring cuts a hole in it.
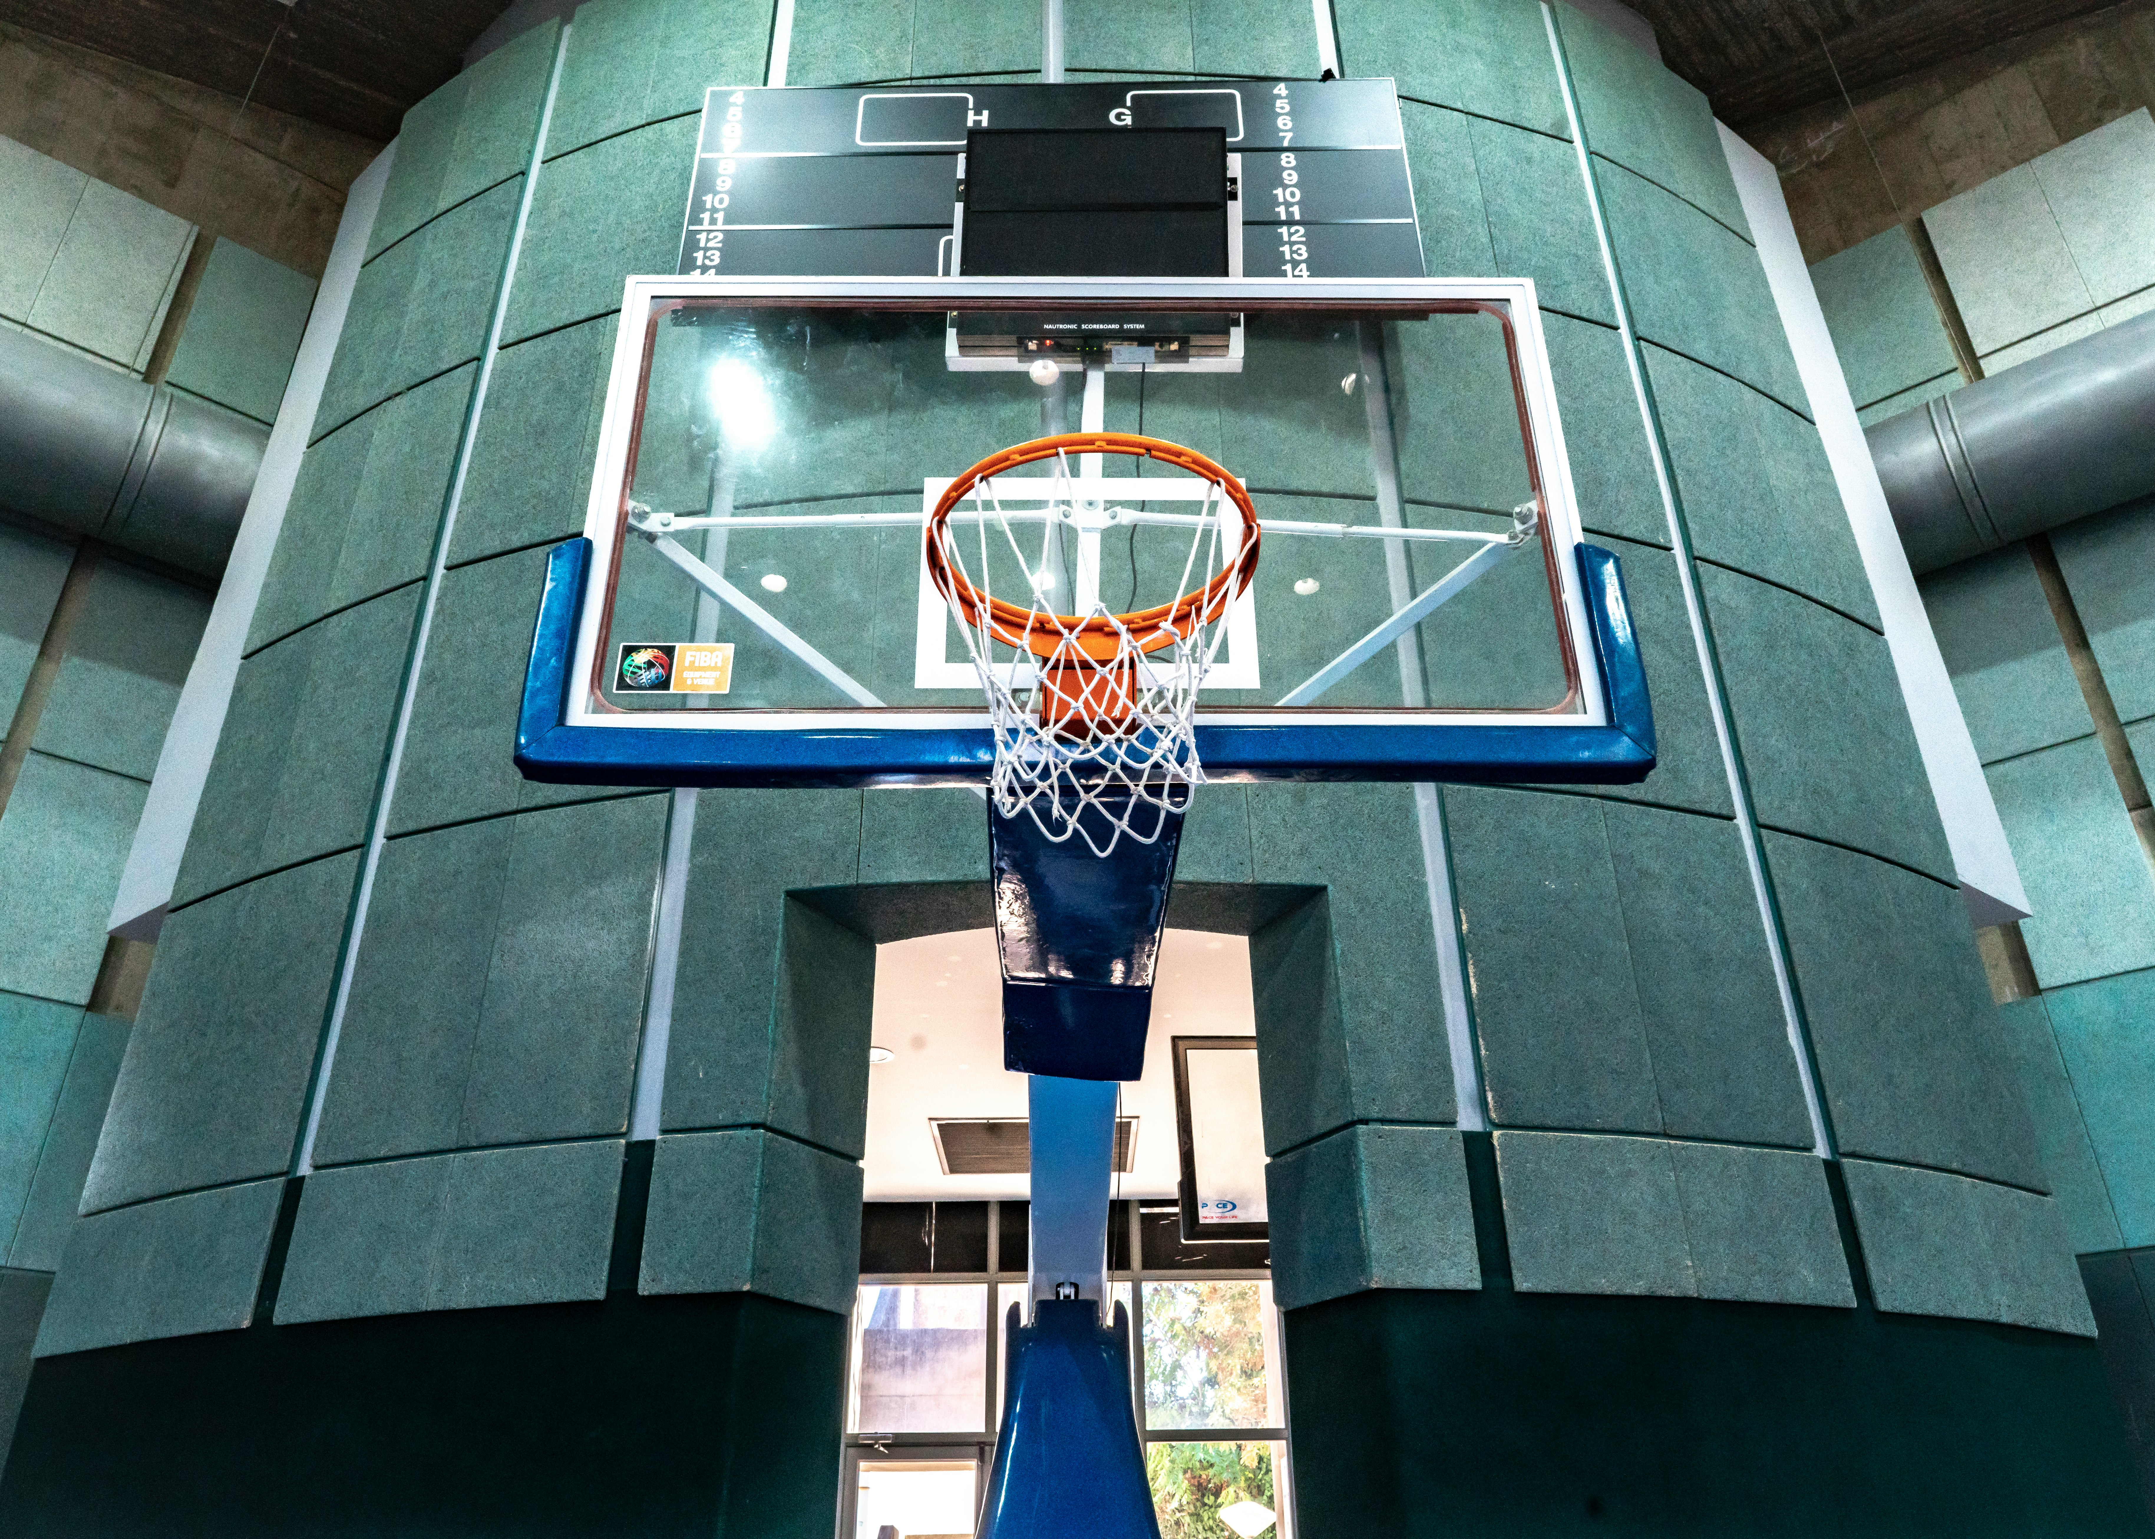
[[[1299,1539],[2146,1539],[2093,1341],[1700,1300],[1287,1315]]]

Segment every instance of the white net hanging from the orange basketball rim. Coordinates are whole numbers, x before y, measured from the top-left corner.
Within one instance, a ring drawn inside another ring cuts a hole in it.
[[[970,621],[955,597],[950,614],[965,636],[996,729],[989,780],[996,810],[1004,817],[1028,813],[1049,841],[1078,836],[1095,856],[1106,856],[1123,838],[1157,841],[1170,815],[1190,806],[1192,787],[1205,785],[1194,729],[1198,685],[1226,642],[1233,604],[1192,612],[1172,629],[1153,623],[1138,634],[1099,597],[1101,535],[1131,524],[1164,526],[1162,535],[1170,537],[1187,532],[1174,591],[1138,593],[1134,610],[1149,610],[1200,588],[1235,560],[1241,515],[1218,485],[1196,474],[1157,483],[1101,481],[1073,474],[1067,453],[1041,463],[1049,466],[1047,476],[983,481],[942,528],[950,569],[983,599],[993,597],[989,573],[1009,573],[1015,560],[1024,593],[1004,593],[1004,599],[1024,610],[1024,623],[991,621],[985,604]],[[1187,500],[1196,485],[1202,485],[1200,500]],[[1170,487],[1183,489],[1181,500],[1168,502],[1172,513],[1112,502],[1112,494],[1123,494],[1159,509]],[[1110,580],[1110,586],[1121,584]],[[1073,608],[1082,612],[1058,612],[1058,597],[1073,588]],[[1080,627],[1095,655],[1080,644]],[[1017,647],[1013,632],[1037,640]],[[1047,655],[1037,655],[1041,649]],[[1099,651],[1112,655],[1099,657]]]

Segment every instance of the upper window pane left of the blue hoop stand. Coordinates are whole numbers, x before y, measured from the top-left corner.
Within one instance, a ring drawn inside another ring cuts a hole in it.
[[[985,1388],[985,1282],[862,1285],[851,1431],[983,1431]]]

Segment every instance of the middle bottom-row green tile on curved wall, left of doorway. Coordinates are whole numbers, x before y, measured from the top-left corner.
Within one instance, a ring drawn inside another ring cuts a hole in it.
[[[614,1138],[315,1170],[276,1319],[606,1298],[618,1192]]]

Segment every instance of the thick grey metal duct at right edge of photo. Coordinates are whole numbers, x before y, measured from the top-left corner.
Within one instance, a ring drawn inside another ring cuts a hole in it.
[[[2155,310],[1866,438],[1918,573],[2155,494]]]

